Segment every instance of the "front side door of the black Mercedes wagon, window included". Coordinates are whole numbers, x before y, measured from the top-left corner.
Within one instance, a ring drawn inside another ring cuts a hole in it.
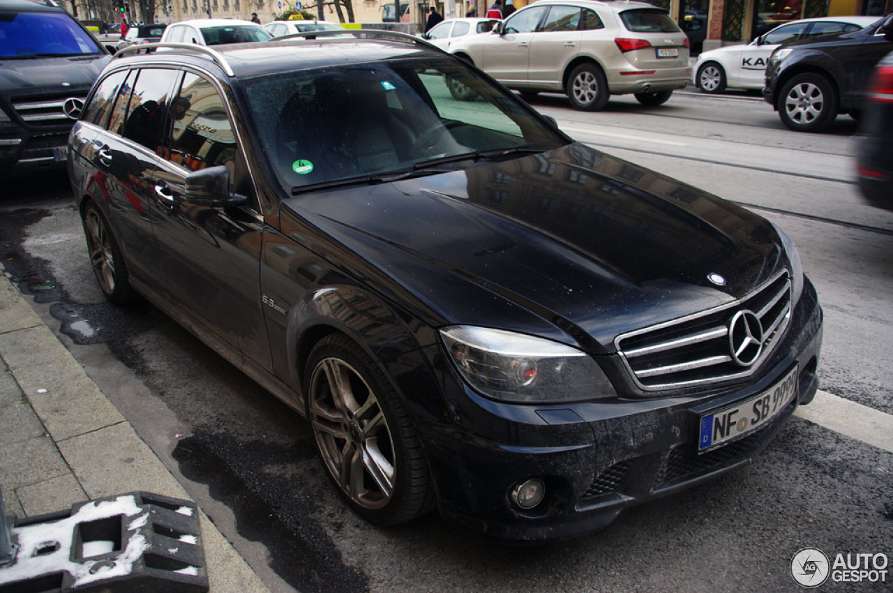
[[[155,180],[166,211],[156,237],[173,305],[269,368],[259,280],[263,219],[228,104],[211,80],[183,73]],[[230,170],[230,190],[245,196],[246,204],[190,201],[189,173],[218,165]]]

